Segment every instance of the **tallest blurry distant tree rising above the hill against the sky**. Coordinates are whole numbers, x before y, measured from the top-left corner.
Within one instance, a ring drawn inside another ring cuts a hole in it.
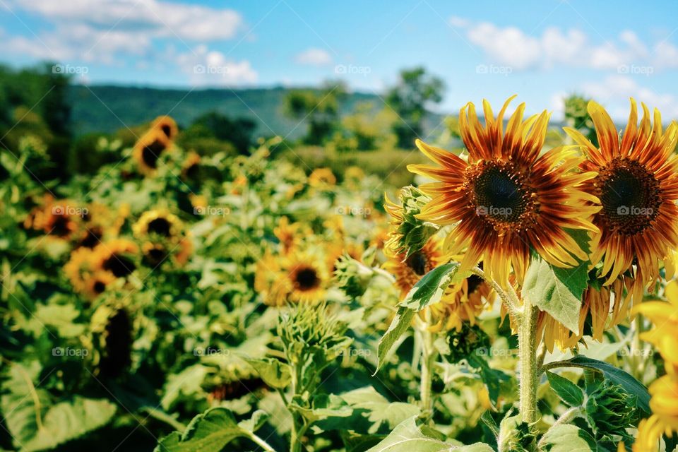
[[[444,89],[443,81],[423,67],[400,71],[398,84],[386,93],[386,102],[401,119],[393,124],[400,148],[410,148],[421,136],[426,108],[443,100]]]

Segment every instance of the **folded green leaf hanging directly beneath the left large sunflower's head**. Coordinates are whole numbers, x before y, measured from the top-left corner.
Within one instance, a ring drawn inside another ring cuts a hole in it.
[[[588,283],[587,263],[573,268],[558,268],[542,258],[532,258],[525,274],[523,297],[579,333],[581,297]]]

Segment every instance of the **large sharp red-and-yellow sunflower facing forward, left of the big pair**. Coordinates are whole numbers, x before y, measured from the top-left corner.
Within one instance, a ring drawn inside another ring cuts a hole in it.
[[[494,119],[483,102],[485,126],[475,106],[460,111],[459,126],[468,161],[417,140],[417,147],[440,166],[408,165],[410,172],[436,179],[420,189],[432,197],[417,218],[452,225],[446,239],[451,254],[465,251],[460,270],[483,261],[491,278],[506,282],[511,267],[521,280],[534,249],[554,266],[578,265],[585,252],[566,231],[597,231],[588,220],[597,201],[581,191],[595,173],[576,173],[581,158],[572,148],[540,155],[549,115],[523,121],[525,104],[513,113],[504,132],[509,98]]]

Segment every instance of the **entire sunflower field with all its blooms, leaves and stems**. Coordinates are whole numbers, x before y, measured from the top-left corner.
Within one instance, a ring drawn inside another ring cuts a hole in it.
[[[275,137],[196,153],[167,116],[46,179],[26,133],[0,153],[0,449],[673,451],[678,124],[511,100],[412,143],[404,187]]]

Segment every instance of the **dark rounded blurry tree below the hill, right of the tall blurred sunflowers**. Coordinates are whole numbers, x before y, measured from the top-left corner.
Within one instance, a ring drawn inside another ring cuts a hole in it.
[[[256,124],[248,118],[230,119],[219,112],[209,112],[198,117],[184,133],[182,141],[192,138],[216,138],[233,145],[238,153],[246,154],[253,142]]]

